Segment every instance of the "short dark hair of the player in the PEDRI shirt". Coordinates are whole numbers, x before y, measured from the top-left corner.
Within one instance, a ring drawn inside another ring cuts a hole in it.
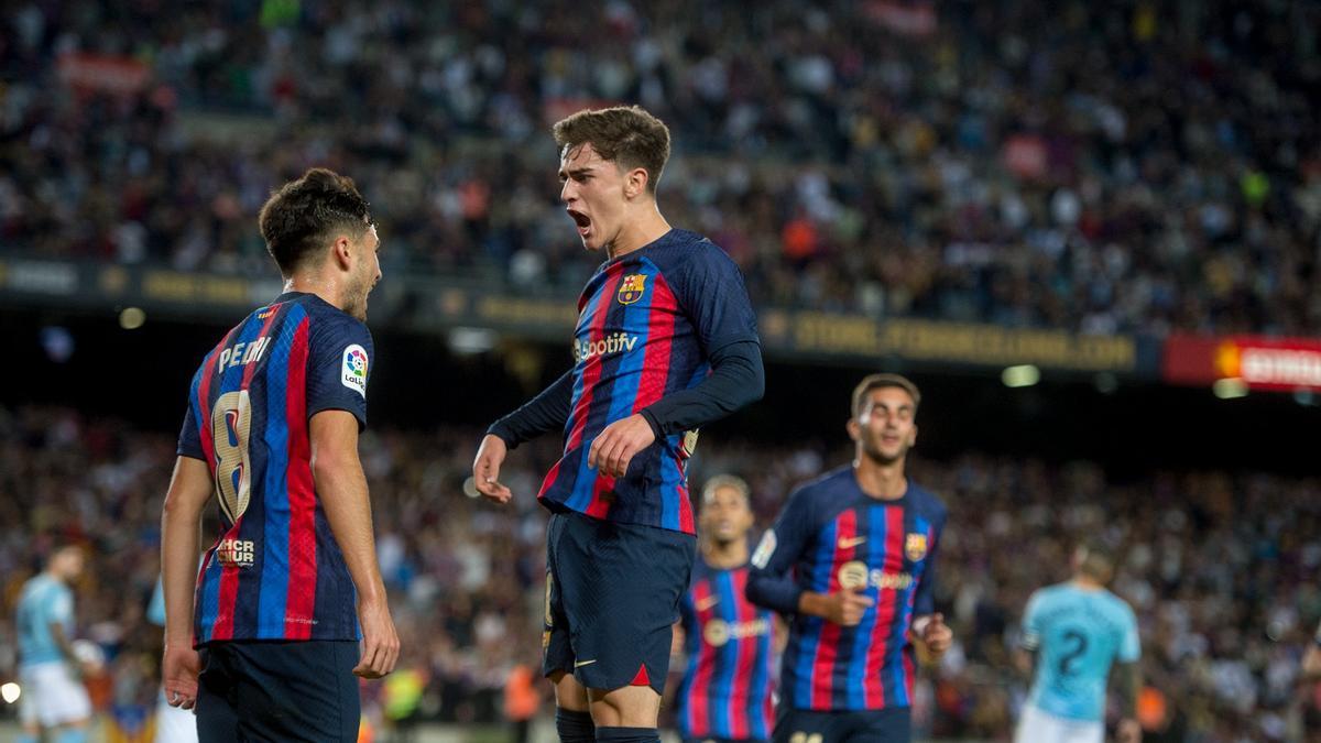
[[[371,226],[371,206],[353,178],[312,168],[272,193],[258,217],[266,249],[280,272],[293,274],[337,230],[362,235]]]

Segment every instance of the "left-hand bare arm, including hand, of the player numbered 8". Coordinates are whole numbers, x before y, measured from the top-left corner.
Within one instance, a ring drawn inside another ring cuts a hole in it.
[[[197,702],[201,661],[193,649],[193,591],[202,510],[213,487],[211,471],[205,461],[180,456],[174,461],[161,514],[161,587],[165,594],[161,684],[165,701],[184,709],[192,709]]]

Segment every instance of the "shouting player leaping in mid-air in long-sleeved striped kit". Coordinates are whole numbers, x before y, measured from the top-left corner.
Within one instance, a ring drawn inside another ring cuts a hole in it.
[[[761,397],[761,345],[742,276],[657,206],[670,131],[638,107],[555,124],[560,198],[606,262],[579,300],[573,368],[499,419],[473,463],[506,502],[509,450],[552,428],[564,456],[542,484],[547,538],[543,672],[560,738],[658,740],[671,625],[696,538],[687,459],[697,427]]]

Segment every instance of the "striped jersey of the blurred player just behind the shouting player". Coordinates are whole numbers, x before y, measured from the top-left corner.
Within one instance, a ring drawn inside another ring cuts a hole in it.
[[[768,740],[774,726],[771,633],[775,615],[745,596],[748,566],[697,559],[679,604],[688,668],[675,713],[684,738]]]

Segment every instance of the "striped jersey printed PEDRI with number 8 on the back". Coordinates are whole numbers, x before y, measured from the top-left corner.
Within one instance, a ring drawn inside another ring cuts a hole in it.
[[[357,640],[357,595],[312,480],[309,420],[366,426],[371,333],[316,295],[291,292],[206,354],[178,453],[215,477],[221,534],[197,579],[193,643]]]

